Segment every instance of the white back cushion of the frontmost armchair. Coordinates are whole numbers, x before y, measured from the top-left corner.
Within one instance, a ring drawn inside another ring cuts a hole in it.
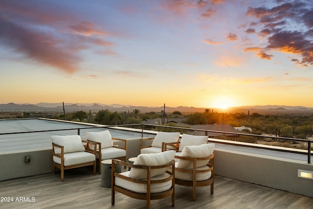
[[[168,150],[160,153],[140,154],[134,161],[134,165],[164,165],[174,160],[174,150]],[[165,168],[151,169],[151,177],[162,175],[167,170]],[[129,177],[133,179],[147,179],[147,169],[131,168]]]

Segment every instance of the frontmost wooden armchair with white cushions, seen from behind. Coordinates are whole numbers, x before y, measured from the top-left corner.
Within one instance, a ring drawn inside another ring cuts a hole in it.
[[[129,197],[146,200],[147,209],[150,201],[172,197],[175,205],[175,151],[140,154],[134,164],[112,160],[112,205],[115,204],[115,191]],[[130,171],[117,173],[115,164],[131,167]]]

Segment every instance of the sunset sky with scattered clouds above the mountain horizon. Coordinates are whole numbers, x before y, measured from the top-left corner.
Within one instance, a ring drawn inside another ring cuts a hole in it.
[[[313,1],[0,0],[0,104],[313,107]]]

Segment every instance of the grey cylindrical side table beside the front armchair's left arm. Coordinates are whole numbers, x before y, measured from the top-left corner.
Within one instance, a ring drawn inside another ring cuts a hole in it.
[[[112,159],[101,161],[101,186],[111,187],[112,182]],[[121,172],[121,165],[115,164],[115,172]]]

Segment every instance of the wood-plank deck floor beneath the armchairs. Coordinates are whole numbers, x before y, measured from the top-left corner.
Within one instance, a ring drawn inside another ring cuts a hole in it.
[[[101,176],[92,175],[89,168],[66,170],[64,182],[60,181],[60,172],[2,181],[1,201],[12,197],[13,202],[0,202],[0,209],[146,208],[144,200],[136,200],[118,192],[115,196],[115,206],[111,206],[111,188],[100,186],[100,182]],[[19,202],[17,198],[24,200]],[[151,208],[171,209],[171,198],[153,200]],[[313,209],[313,198],[215,176],[214,194],[210,194],[210,186],[198,187],[196,202],[192,201],[191,187],[176,185],[174,208]]]

